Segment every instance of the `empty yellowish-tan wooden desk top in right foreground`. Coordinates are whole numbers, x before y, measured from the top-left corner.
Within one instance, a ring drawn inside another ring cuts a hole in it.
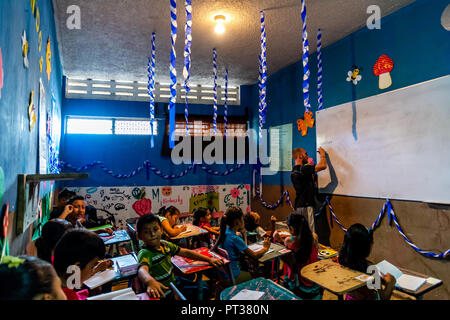
[[[343,300],[345,293],[366,285],[366,282],[356,279],[363,274],[341,266],[330,259],[311,263],[301,270],[304,278],[336,294],[339,300]]]

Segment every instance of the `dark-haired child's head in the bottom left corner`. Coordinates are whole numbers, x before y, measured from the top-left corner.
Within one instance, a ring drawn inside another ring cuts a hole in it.
[[[66,300],[61,281],[47,261],[32,256],[3,256],[0,300]]]

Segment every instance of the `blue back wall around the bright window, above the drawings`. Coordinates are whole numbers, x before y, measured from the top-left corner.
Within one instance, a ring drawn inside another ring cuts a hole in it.
[[[155,136],[155,147],[150,148],[150,136],[127,136],[127,135],[83,135],[65,134],[66,116],[100,116],[100,117],[149,117],[149,104],[136,101],[117,100],[84,100],[63,99],[63,133],[61,143],[61,160],[76,167],[94,161],[102,161],[104,165],[114,173],[129,174],[149,160],[153,166],[163,174],[178,174],[189,167],[189,165],[174,165],[170,158],[161,156],[161,145],[165,126],[163,108],[167,104],[158,103],[156,118],[158,122],[158,135]],[[177,114],[184,114],[184,104],[176,104]],[[211,115],[212,105],[189,105],[191,115]],[[219,119],[223,115],[223,106],[218,107]],[[230,116],[244,116],[245,108],[241,106],[230,106]],[[235,165],[212,165],[213,170],[224,172]],[[65,171],[70,171],[65,169]],[[182,178],[167,180],[153,172],[150,172],[147,180],[146,170],[142,170],[132,178],[117,179],[103,172],[100,167],[93,167],[84,172],[89,173],[89,179],[67,181],[65,186],[88,187],[88,186],[161,186],[161,185],[218,185],[218,184],[241,184],[250,183],[251,166],[244,165],[238,171],[227,176],[214,176],[207,174],[200,168],[190,172]]]

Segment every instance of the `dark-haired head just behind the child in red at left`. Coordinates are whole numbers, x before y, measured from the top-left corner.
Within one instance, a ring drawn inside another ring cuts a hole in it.
[[[72,228],[69,221],[61,219],[50,220],[44,224],[42,234],[35,243],[38,258],[53,263],[53,251],[56,244]]]

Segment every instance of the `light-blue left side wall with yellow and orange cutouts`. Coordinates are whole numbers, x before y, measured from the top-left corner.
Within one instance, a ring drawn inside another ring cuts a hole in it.
[[[42,30],[41,52],[38,50],[38,33],[30,1],[0,0],[0,48],[4,71],[4,85],[0,98],[0,167],[5,173],[6,189],[2,202],[10,202],[10,211],[15,211],[16,207],[17,175],[35,174],[39,171],[39,78],[43,80],[47,104],[50,103],[53,94],[58,113],[61,106],[62,67],[57,46],[53,6],[51,0],[38,0],[36,3],[40,12],[40,30]],[[29,69],[24,67],[22,57],[21,37],[24,30],[29,41]],[[49,36],[52,73],[50,82],[47,82],[45,53]],[[42,73],[39,71],[41,55],[44,57]],[[30,132],[27,109],[32,90],[34,90],[37,121],[33,131]]]

